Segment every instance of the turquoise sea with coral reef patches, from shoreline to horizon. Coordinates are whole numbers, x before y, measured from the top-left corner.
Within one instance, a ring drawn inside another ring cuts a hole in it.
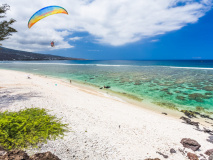
[[[132,95],[179,109],[213,111],[213,61],[37,61],[0,62],[26,71]]]

